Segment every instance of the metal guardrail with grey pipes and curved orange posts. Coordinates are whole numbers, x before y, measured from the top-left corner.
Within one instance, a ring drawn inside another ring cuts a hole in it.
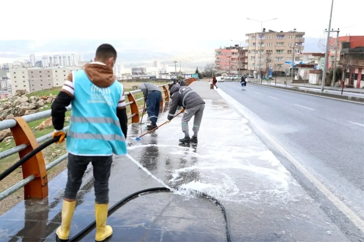
[[[191,82],[195,81],[195,78],[189,78],[186,80],[186,85],[190,85]],[[164,92],[164,96],[161,100],[161,105],[163,105],[163,100],[169,101],[169,92],[167,86],[171,84],[169,82],[164,85],[159,85],[159,88],[162,88]],[[130,92],[125,92],[125,96],[128,97],[129,102],[126,105],[130,105],[131,115],[128,116],[128,119],[131,118],[132,123],[139,122],[139,115],[143,110],[139,110],[138,101],[143,100],[144,98],[135,99],[135,93],[140,93],[142,90],[133,90]],[[71,105],[67,107],[67,111],[71,110]],[[32,130],[29,128],[28,122],[36,121],[41,118],[46,118],[51,116],[51,110],[33,113],[29,115],[25,115],[22,117],[16,117],[11,120],[0,121],[0,130],[10,128],[12,135],[15,140],[16,146],[5,150],[0,153],[0,160],[8,157],[12,154],[19,153],[19,157],[24,157],[27,153],[31,152],[33,149],[39,146],[39,143],[44,142],[52,137],[52,133],[46,134],[39,138],[35,138]],[[67,131],[68,127],[64,129]],[[46,165],[44,162],[43,154],[41,152],[37,153],[34,157],[30,158],[27,162],[25,162],[22,166],[22,172],[24,179],[20,182],[17,182],[15,185],[9,187],[7,190],[0,193],[0,201],[4,198],[8,197],[15,191],[19,190],[21,187],[24,187],[24,199],[28,198],[40,198],[44,199],[48,196],[48,178],[47,171],[58,165],[60,162],[66,160],[68,157],[68,153],[63,156],[57,158],[52,161],[50,164]]]

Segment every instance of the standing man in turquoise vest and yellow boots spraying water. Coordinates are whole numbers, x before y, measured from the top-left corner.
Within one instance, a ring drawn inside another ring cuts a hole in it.
[[[56,230],[56,241],[67,241],[76,206],[76,195],[83,174],[91,162],[95,188],[95,241],[112,235],[106,225],[109,203],[109,177],[112,154],[127,153],[127,115],[123,85],[115,81],[112,67],[116,50],[102,44],[96,50],[95,62],[84,70],[71,72],[52,104],[53,137],[66,136],[63,129],[66,107],[72,105],[67,132],[68,177],[62,205],[62,224]]]

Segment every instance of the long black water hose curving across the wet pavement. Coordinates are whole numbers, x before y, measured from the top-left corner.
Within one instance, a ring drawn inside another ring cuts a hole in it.
[[[3,180],[5,177],[7,177],[14,170],[16,170],[19,166],[21,166],[25,162],[27,162],[30,158],[32,158],[37,153],[39,153],[41,150],[43,150],[44,148],[47,148],[48,146],[57,142],[58,140],[59,140],[59,137],[51,138],[51,139],[47,140],[46,142],[44,142],[43,144],[39,145],[37,148],[35,148],[31,152],[29,152],[28,154],[26,154],[23,158],[21,158],[19,161],[15,162],[15,164],[13,164],[8,169],[6,169],[3,173],[0,174],[0,181]],[[175,189],[178,190],[179,188],[175,188]],[[128,202],[131,198],[136,197],[139,194],[150,192],[150,191],[163,191],[163,190],[171,191],[167,187],[152,187],[152,188],[144,189],[141,191],[137,191],[133,194],[130,194],[127,197],[121,199],[114,206],[110,207],[107,215],[110,216],[112,213],[114,213],[114,211],[118,210],[119,207],[121,207],[124,203]],[[221,207],[224,218],[225,218],[225,222],[226,222],[226,239],[227,239],[227,242],[232,242],[229,215],[227,214],[225,206],[220,201],[218,201],[216,198],[211,197],[210,195],[207,195],[205,193],[200,193],[198,191],[195,191],[195,192],[201,194],[202,197],[210,199],[211,201],[215,202],[217,205],[219,205]],[[96,220],[94,222],[90,223],[86,228],[81,230],[74,237],[70,238],[69,242],[78,241],[79,239],[82,239],[87,234],[88,231],[90,231],[91,229],[94,228],[95,225],[96,225]]]

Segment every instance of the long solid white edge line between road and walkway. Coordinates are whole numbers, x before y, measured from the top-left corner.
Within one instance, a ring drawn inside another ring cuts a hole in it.
[[[220,96],[227,102],[227,104],[234,106],[241,114],[245,116],[250,121],[257,130],[261,132],[274,146],[279,150],[300,172],[317,187],[346,217],[348,217],[354,225],[364,232],[364,221],[361,219],[353,210],[351,210],[340,198],[336,197],[318,178],[316,178],[312,173],[309,172],[300,162],[296,160],[283,146],[281,146],[272,136],[264,131],[260,125],[254,124],[249,116],[256,115],[240,102],[236,101],[234,98],[226,94],[223,90],[218,89],[217,91]],[[225,97],[224,97],[225,96]]]

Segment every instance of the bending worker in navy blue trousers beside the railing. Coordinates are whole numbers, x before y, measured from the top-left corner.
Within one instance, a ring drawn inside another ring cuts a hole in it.
[[[145,82],[139,86],[142,89],[146,108],[143,112],[147,112],[149,121],[151,124],[148,126],[148,130],[157,128],[157,120],[159,115],[159,105],[162,100],[162,92],[158,86],[150,82]]]

